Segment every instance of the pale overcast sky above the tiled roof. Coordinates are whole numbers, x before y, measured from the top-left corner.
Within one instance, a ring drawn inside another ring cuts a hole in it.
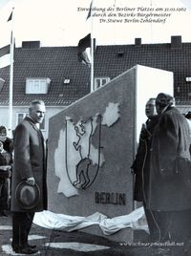
[[[17,46],[26,40],[40,40],[42,46],[75,46],[81,37],[91,31],[91,19],[86,20],[88,11],[77,11],[77,8],[89,8],[91,0],[0,0],[0,3],[2,35],[8,31],[8,26],[11,27],[11,22],[7,24],[5,21],[11,13],[12,5],[15,6],[13,31]],[[191,42],[189,5],[191,6],[190,0],[95,0],[94,6],[102,9],[187,7],[186,11],[166,12],[170,13],[170,17],[163,24],[100,23],[99,18],[94,18],[97,44],[132,44],[135,37],[141,37],[142,43],[162,43],[170,42],[171,35],[182,35],[182,41]],[[108,11],[107,14],[109,12],[117,13]],[[1,38],[4,37],[2,35]]]

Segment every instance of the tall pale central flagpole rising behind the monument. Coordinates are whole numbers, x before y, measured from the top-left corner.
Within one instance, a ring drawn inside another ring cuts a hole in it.
[[[91,7],[93,8],[93,1],[92,1],[92,5]],[[95,71],[95,56],[94,56],[94,48],[95,48],[95,45],[94,45],[94,33],[93,33],[93,13],[91,11],[91,58],[92,58],[92,61],[91,61],[91,93],[93,93],[95,91],[95,74],[94,74],[94,71]]]

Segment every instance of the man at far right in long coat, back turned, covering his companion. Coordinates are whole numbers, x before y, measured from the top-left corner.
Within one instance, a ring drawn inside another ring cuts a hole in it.
[[[147,208],[159,226],[159,241],[183,242],[191,235],[190,134],[173,104],[172,96],[157,96]]]

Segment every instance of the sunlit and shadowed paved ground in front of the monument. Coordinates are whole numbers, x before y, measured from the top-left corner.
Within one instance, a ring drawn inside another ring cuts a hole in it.
[[[84,232],[67,233],[32,224],[30,240],[30,243],[37,245],[39,249],[39,252],[34,255],[191,256],[191,251],[187,249],[187,245],[146,243],[147,237],[145,233],[140,231],[136,233],[137,243],[130,245],[128,243],[115,243]],[[19,255],[11,250],[11,216],[0,217],[0,255]]]

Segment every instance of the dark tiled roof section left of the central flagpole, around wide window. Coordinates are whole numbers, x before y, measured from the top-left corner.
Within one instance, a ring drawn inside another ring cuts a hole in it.
[[[47,106],[69,105],[90,92],[90,69],[77,61],[76,47],[43,47],[40,49],[16,48],[13,65],[13,106],[28,106],[34,98],[45,101]],[[0,105],[9,104],[9,72],[0,70],[6,82],[0,92]],[[28,95],[26,78],[48,77],[52,82],[46,95]],[[64,84],[65,78],[71,79]]]

